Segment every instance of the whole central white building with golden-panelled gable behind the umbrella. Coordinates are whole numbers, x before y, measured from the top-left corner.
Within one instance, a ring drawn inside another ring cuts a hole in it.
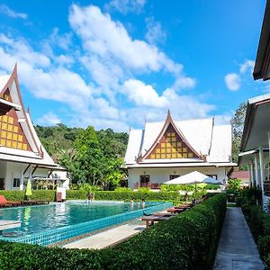
[[[221,183],[227,181],[231,162],[231,126],[214,119],[146,122],[144,130],[130,130],[125,164],[129,187],[159,188],[160,184],[198,171]]]

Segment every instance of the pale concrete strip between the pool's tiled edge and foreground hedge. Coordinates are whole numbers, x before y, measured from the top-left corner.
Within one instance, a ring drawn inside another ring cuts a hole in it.
[[[110,247],[138,234],[145,229],[143,225],[125,224],[113,229],[94,234],[93,236],[77,240],[63,247],[66,248],[97,248]]]

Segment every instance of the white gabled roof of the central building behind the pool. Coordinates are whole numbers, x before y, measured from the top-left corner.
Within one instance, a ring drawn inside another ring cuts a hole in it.
[[[161,138],[166,136],[168,127],[175,130],[175,136],[183,141],[190,155],[178,158],[179,155],[168,154],[166,158],[159,158],[161,156],[153,152]],[[156,157],[151,158],[153,154],[156,154]],[[127,166],[154,163],[230,163],[230,156],[230,125],[216,125],[212,118],[173,121],[168,112],[165,122],[146,122],[144,130],[130,130],[125,163]]]

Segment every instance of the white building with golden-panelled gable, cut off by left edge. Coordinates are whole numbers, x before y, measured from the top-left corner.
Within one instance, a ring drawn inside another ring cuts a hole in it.
[[[11,76],[0,76],[0,190],[23,190],[27,179],[51,179],[55,170],[24,109],[15,66]]]

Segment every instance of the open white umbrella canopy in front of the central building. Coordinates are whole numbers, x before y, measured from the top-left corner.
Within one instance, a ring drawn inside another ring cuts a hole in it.
[[[179,176],[170,181],[166,181],[164,184],[197,184],[197,183],[220,184],[219,181],[211,178],[210,176],[203,175],[197,171]]]

